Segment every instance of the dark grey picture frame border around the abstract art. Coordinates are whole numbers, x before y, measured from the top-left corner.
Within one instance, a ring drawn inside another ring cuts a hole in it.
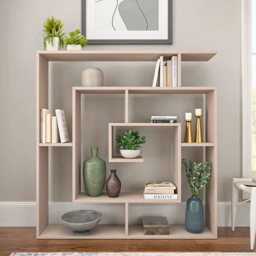
[[[81,31],[82,35],[86,37],[86,0],[81,0]],[[114,39],[114,40],[109,40],[109,39],[97,39],[97,40],[92,40],[88,39],[89,44],[172,44],[172,0],[168,0],[168,39]]]

